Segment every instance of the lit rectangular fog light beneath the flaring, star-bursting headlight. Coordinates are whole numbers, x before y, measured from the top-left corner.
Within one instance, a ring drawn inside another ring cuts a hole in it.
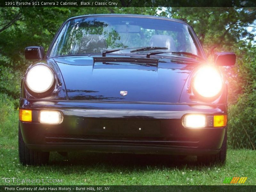
[[[183,125],[186,128],[200,128],[206,126],[205,115],[189,114],[183,118]]]

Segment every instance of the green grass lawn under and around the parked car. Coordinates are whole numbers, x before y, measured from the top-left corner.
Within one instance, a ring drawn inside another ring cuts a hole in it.
[[[248,177],[243,185],[256,184],[253,150],[228,150],[224,166],[199,166],[195,157],[72,152],[68,161],[51,153],[46,166],[22,166],[18,158],[18,113],[2,115],[0,122],[0,185],[4,178],[62,179],[40,185],[223,185],[225,177]],[[35,183],[27,183],[31,185]],[[228,184],[225,184],[228,185]]]

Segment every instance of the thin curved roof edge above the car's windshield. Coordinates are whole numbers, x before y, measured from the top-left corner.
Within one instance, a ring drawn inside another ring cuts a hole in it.
[[[160,16],[152,16],[152,15],[135,15],[135,14],[92,14],[92,15],[81,15],[81,16],[71,17],[67,21],[73,20],[73,19],[84,18],[84,17],[97,17],[97,16],[104,16],[104,17],[119,16],[119,17],[140,17],[140,18],[162,19],[162,20],[170,20],[170,21],[180,22],[180,23],[188,25],[188,23],[186,23],[186,22],[184,22],[182,20],[178,20],[178,19],[172,19],[172,18],[160,17]]]

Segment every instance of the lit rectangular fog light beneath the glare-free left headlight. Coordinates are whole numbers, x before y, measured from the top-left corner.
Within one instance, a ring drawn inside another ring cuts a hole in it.
[[[40,123],[60,124],[62,122],[62,115],[60,111],[40,111]]]

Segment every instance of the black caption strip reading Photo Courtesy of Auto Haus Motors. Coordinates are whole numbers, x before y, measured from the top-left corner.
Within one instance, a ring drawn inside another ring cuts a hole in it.
[[[132,192],[176,192],[176,191],[189,191],[189,192],[200,192],[200,191],[244,191],[251,192],[256,191],[256,186],[246,186],[246,185],[222,185],[222,186],[149,186],[149,185],[134,185],[134,186],[116,186],[116,185],[108,185],[108,186],[86,186],[86,185],[77,185],[77,186],[54,186],[54,185],[46,185],[46,186],[35,186],[35,185],[9,185],[9,186],[0,186],[1,192],[80,192],[80,191],[88,191],[88,192],[117,192],[117,191],[132,191]]]

